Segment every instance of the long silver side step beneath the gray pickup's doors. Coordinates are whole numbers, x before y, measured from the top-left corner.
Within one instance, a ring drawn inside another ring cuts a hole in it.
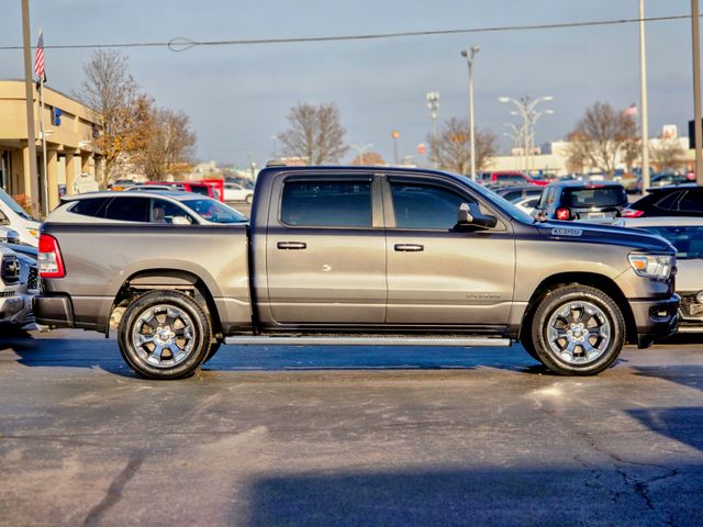
[[[226,337],[225,344],[241,346],[459,346],[502,347],[512,343],[510,338],[490,337],[347,337],[347,336],[302,336],[302,337]]]

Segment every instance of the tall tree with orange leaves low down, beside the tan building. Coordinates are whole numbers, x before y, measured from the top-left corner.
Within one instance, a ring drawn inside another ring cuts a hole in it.
[[[78,100],[98,114],[102,126],[96,146],[105,161],[103,187],[119,168],[124,153],[133,147],[132,132],[140,121],[137,85],[127,67],[127,58],[120,52],[97,49],[83,64],[85,78],[76,93]]]

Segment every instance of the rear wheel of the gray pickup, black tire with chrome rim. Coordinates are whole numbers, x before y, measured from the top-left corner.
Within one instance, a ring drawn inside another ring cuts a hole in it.
[[[118,343],[138,375],[175,380],[196,372],[208,356],[211,335],[210,319],[192,298],[178,291],[152,291],[125,310]],[[150,341],[140,346],[136,341],[142,338]]]

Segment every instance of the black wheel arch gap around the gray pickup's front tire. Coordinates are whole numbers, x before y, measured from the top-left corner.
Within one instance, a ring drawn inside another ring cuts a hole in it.
[[[637,343],[637,326],[635,324],[635,315],[627,302],[627,298],[620,289],[620,287],[611,278],[599,274],[595,272],[561,272],[545,278],[539,285],[535,289],[534,293],[527,302],[527,307],[523,314],[523,321],[520,327],[520,339],[522,340],[524,332],[528,332],[532,326],[532,318],[539,305],[539,302],[555,289],[563,285],[579,283],[581,285],[589,285],[600,289],[605,294],[611,296],[617,304],[623,317],[625,318],[625,340],[629,344]]]

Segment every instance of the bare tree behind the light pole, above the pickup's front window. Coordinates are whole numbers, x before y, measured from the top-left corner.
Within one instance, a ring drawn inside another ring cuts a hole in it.
[[[436,135],[427,136],[429,155],[440,168],[467,173],[471,167],[471,135],[465,121],[451,117]],[[498,152],[498,137],[490,130],[476,132],[476,169],[483,170]]]

